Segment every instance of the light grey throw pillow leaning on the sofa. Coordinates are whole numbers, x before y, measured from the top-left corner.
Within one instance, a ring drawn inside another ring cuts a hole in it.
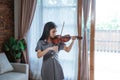
[[[12,71],[13,67],[8,61],[5,53],[0,53],[0,74],[3,74],[8,71]]]

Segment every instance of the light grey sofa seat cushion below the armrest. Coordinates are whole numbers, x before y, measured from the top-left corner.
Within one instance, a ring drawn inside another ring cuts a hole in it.
[[[0,75],[0,80],[26,80],[25,73],[8,72]]]

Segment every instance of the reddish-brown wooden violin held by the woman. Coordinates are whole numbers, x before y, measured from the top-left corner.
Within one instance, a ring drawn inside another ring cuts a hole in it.
[[[70,35],[65,35],[65,36],[61,36],[61,35],[56,35],[54,38],[52,38],[52,43],[53,44],[58,44],[60,42],[68,42],[71,39],[72,36]],[[76,36],[77,39],[82,39],[82,37]]]

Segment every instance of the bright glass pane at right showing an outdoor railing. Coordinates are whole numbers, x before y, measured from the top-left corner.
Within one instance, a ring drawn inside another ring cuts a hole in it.
[[[119,3],[96,0],[95,80],[120,80]]]

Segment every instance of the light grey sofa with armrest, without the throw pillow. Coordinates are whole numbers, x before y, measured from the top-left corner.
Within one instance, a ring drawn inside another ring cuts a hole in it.
[[[1,64],[0,66],[2,67]],[[7,71],[0,74],[0,80],[28,80],[29,74],[28,64],[22,63],[10,63],[10,64],[12,65],[13,69],[11,71]]]

